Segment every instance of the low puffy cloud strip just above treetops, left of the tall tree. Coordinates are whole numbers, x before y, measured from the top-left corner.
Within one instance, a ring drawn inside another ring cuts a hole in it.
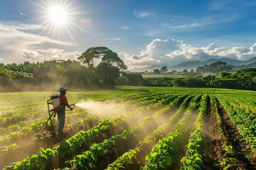
[[[74,55],[62,55],[60,53],[58,53],[56,50],[52,51],[52,54],[47,55],[47,54],[41,54],[39,52],[36,51],[29,51],[26,49],[22,49],[21,50],[21,54],[18,55],[20,58],[24,58],[26,60],[32,60],[32,61],[36,61],[36,62],[42,62],[42,61],[49,61],[52,59],[55,60],[76,60],[78,56],[80,56],[80,54],[76,53]]]

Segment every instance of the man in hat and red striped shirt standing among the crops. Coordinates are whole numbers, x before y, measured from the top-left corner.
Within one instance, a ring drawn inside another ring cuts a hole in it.
[[[69,106],[67,97],[65,96],[66,90],[68,90],[68,89],[64,89],[64,87],[60,87],[60,90],[58,90],[58,92],[60,92],[59,99],[60,99],[60,105],[62,108],[60,112],[57,112],[58,120],[59,120],[58,136],[63,135],[63,128],[64,128],[64,124],[65,124],[65,115],[66,115],[66,112],[65,112],[66,106],[70,110],[73,110],[73,108]]]

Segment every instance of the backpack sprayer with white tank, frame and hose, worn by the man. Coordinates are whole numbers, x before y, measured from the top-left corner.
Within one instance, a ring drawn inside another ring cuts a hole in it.
[[[53,132],[54,132],[54,135],[55,135],[58,139],[60,139],[60,138],[58,137],[58,135],[56,134],[54,128],[53,128],[53,124],[52,124],[52,115],[53,115],[53,117],[55,117],[57,112],[60,112],[62,109],[63,109],[63,110],[65,110],[65,109],[61,107],[61,101],[60,101],[60,99],[59,99],[59,95],[58,95],[58,94],[54,94],[54,95],[50,96],[50,98],[51,98],[50,100],[47,100],[47,107],[48,107],[49,118],[48,118],[48,120],[45,122],[44,126],[45,126],[45,125],[47,124],[47,122],[50,120],[50,121],[51,121],[51,125],[52,125],[52,130],[53,130]],[[50,101],[51,101],[51,102],[50,102]],[[49,105],[52,105],[52,106],[53,106],[53,109],[50,110]],[[71,105],[69,105],[69,106],[72,106],[72,105],[74,105],[74,109],[75,109],[76,105],[75,105],[75,104],[71,104]],[[70,111],[70,110],[65,110],[65,111]],[[44,129],[44,126],[43,126],[43,128],[41,129],[41,131]],[[40,131],[38,134],[36,134],[36,135],[40,135],[41,131]],[[35,135],[35,136],[36,136],[36,135]],[[41,136],[41,135],[40,135],[40,136]]]

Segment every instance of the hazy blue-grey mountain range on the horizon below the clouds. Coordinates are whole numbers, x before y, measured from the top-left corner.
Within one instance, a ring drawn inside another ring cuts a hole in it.
[[[247,68],[247,67],[256,67],[256,57],[252,57],[249,60],[241,61],[236,59],[230,59],[230,58],[220,58],[220,59],[209,59],[204,62],[201,61],[187,61],[183,62],[174,66],[169,66],[168,64],[159,64],[159,65],[151,65],[148,67],[143,68],[134,68],[130,70],[131,72],[143,72],[143,71],[153,71],[155,69],[161,69],[162,67],[167,67],[168,71],[176,70],[176,71],[183,71],[184,69],[187,69],[190,71],[191,69],[196,70],[199,66],[209,65],[211,63],[215,63],[217,61],[222,61],[230,65],[234,70],[238,70],[241,68]]]

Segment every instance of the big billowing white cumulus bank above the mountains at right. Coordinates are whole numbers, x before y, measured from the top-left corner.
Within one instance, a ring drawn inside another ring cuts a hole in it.
[[[196,48],[186,45],[183,41],[168,38],[167,40],[156,39],[147,45],[146,50],[142,50],[139,55],[131,53],[118,53],[119,57],[127,65],[152,65],[166,63],[170,65],[178,64],[188,60],[205,61],[211,58],[228,57],[238,60],[248,60],[256,56],[256,43],[250,48],[225,47],[218,48],[216,42]]]

